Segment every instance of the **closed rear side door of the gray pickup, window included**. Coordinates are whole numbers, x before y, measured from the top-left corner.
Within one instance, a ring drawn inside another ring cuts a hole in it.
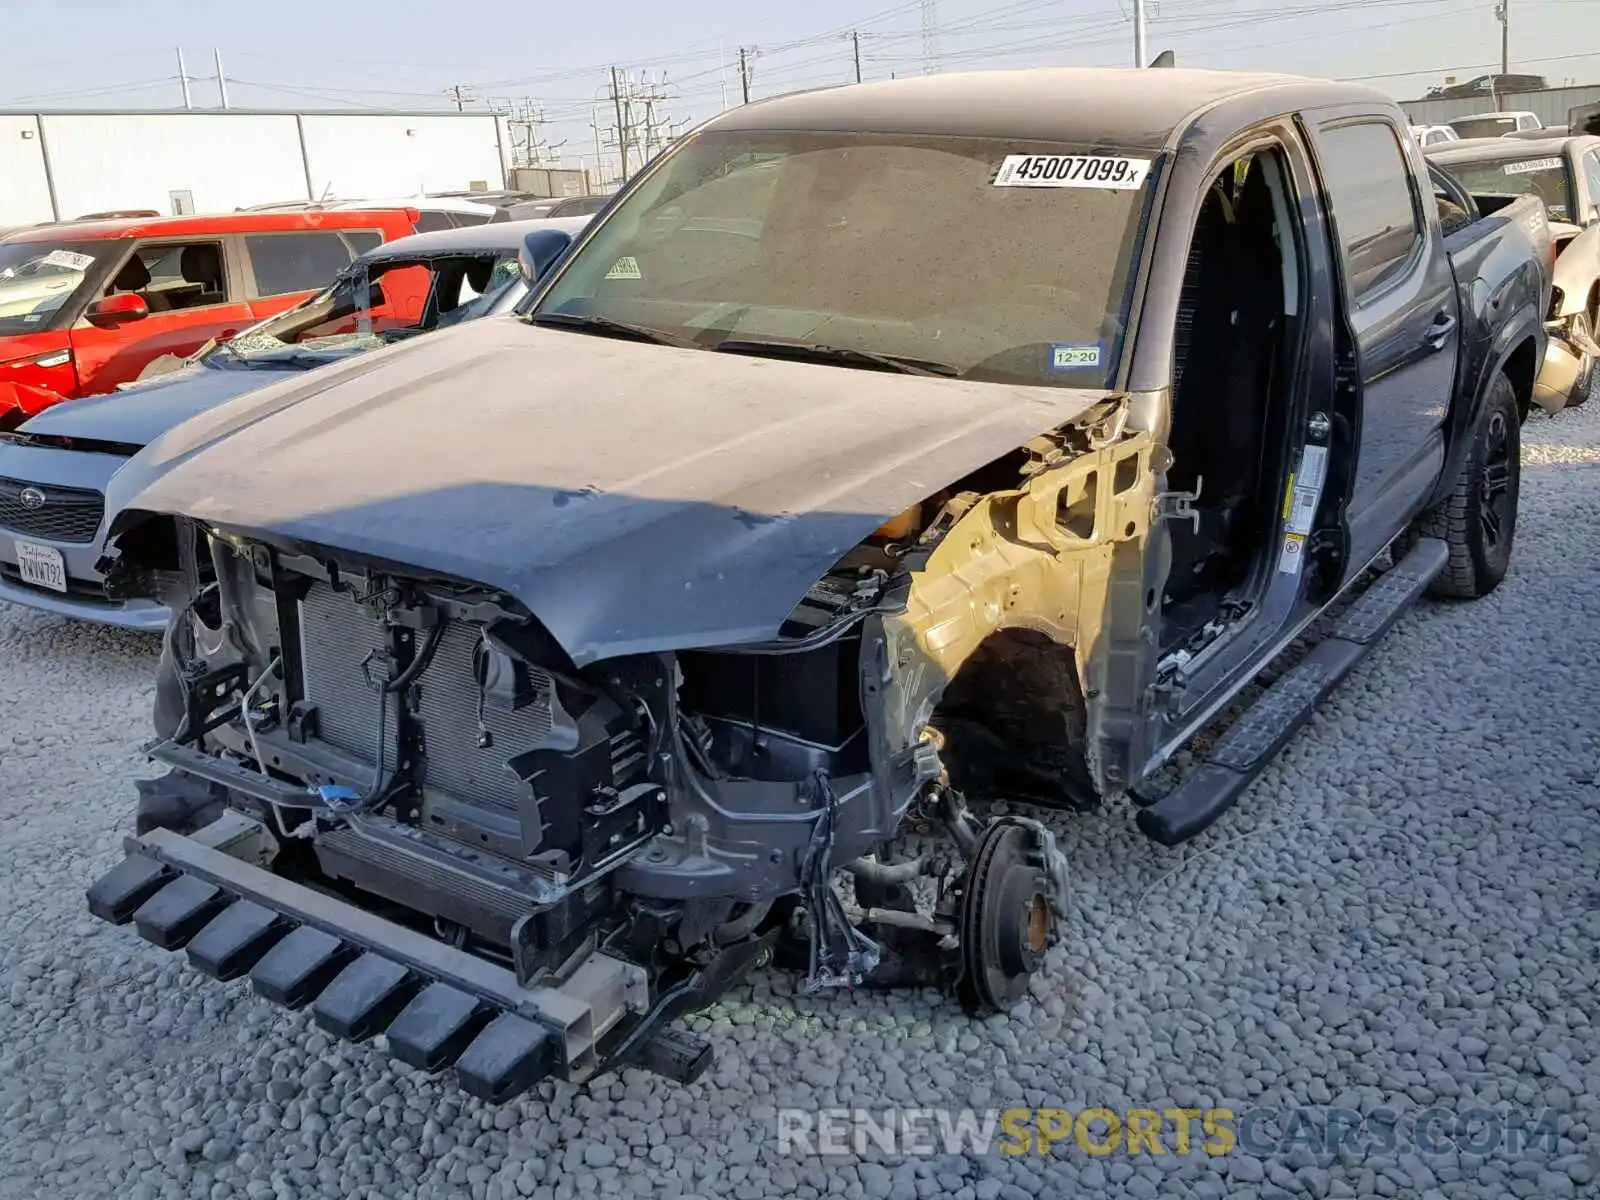
[[[1432,197],[1382,115],[1314,126],[1362,387],[1350,557],[1376,554],[1432,488],[1456,378],[1456,283]]]

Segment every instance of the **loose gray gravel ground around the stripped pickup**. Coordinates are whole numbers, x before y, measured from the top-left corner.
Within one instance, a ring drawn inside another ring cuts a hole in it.
[[[0,1194],[1582,1197],[1600,1168],[1600,403],[1525,429],[1514,574],[1429,603],[1210,835],[1054,819],[1075,922],[1010,1018],[934,994],[696,1021],[712,1072],[483,1107],[91,923],[154,643],[0,605]],[[1549,1154],[781,1155],[778,1107],[1554,1109]]]

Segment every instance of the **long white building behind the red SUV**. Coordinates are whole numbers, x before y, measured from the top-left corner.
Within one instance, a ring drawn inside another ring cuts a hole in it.
[[[488,112],[0,109],[0,227],[506,186]]]

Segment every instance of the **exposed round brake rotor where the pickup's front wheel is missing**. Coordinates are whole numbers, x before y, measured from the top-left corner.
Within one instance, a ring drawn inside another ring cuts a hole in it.
[[[1050,878],[1027,827],[998,822],[982,832],[962,894],[962,978],[957,998],[970,1016],[1005,1011],[1027,994],[1045,963],[1051,923]]]

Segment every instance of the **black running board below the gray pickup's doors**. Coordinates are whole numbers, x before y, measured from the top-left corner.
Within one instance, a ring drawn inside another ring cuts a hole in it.
[[[1178,787],[1134,818],[1152,842],[1176,846],[1205,830],[1250,787],[1328,694],[1339,686],[1384,634],[1445,570],[1450,549],[1437,538],[1419,541],[1350,605],[1323,642],[1267,688],[1218,739]]]

